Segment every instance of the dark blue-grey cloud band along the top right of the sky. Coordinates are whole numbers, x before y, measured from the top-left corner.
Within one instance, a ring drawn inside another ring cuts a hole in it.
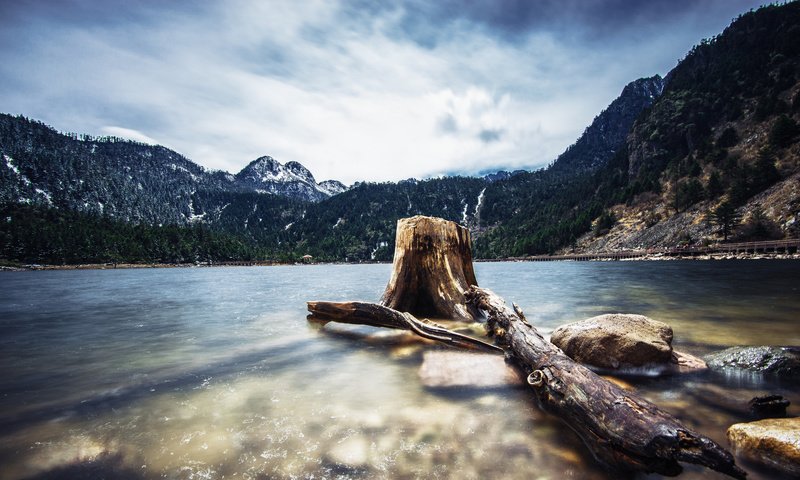
[[[558,34],[563,41],[609,41],[687,16],[716,19],[720,11],[743,12],[754,5],[752,0],[354,0],[343,13],[359,21],[399,14],[395,34],[433,48],[462,28],[477,28],[511,43],[542,32]]]

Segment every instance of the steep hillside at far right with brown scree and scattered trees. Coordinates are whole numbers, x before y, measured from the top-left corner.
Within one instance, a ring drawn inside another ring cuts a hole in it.
[[[696,46],[628,135],[618,166],[628,194],[611,206],[619,221],[579,248],[800,236],[797,38],[792,3],[742,15]]]

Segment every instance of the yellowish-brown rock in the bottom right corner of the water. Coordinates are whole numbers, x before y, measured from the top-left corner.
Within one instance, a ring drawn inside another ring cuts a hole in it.
[[[737,423],[728,429],[728,441],[736,455],[800,476],[800,418]]]

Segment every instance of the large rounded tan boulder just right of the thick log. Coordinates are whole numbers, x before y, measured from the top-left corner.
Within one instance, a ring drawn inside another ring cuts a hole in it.
[[[644,315],[607,314],[557,328],[550,341],[573,360],[596,367],[666,364],[672,327]]]

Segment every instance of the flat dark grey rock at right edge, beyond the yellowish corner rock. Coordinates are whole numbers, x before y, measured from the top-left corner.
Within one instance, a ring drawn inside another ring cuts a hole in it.
[[[732,347],[705,357],[712,370],[738,369],[800,377],[800,347]]]

